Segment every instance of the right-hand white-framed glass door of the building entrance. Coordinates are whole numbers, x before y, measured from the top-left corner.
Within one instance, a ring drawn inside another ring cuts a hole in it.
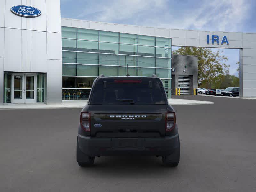
[[[36,75],[25,74],[25,103],[36,103]]]

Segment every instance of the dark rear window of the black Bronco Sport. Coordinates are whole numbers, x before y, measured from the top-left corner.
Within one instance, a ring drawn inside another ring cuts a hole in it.
[[[165,104],[163,89],[162,84],[94,84],[91,104]]]

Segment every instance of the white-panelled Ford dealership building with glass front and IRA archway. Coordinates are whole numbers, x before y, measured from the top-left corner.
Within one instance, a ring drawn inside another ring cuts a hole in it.
[[[197,57],[172,46],[240,49],[240,96],[256,97],[256,34],[61,18],[59,0],[0,1],[0,103],[88,99],[100,74],[156,76],[168,98],[197,88]],[[129,78],[129,77],[127,77]]]

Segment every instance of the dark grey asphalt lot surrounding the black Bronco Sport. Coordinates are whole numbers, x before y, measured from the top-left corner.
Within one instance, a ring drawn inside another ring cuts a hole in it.
[[[174,106],[181,159],[177,168],[156,157],[96,157],[76,163],[81,109],[0,111],[0,191],[255,191],[256,100]]]

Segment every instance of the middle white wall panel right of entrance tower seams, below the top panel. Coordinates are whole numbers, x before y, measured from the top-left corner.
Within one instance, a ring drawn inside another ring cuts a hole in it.
[[[61,33],[47,32],[47,59],[62,60]]]

